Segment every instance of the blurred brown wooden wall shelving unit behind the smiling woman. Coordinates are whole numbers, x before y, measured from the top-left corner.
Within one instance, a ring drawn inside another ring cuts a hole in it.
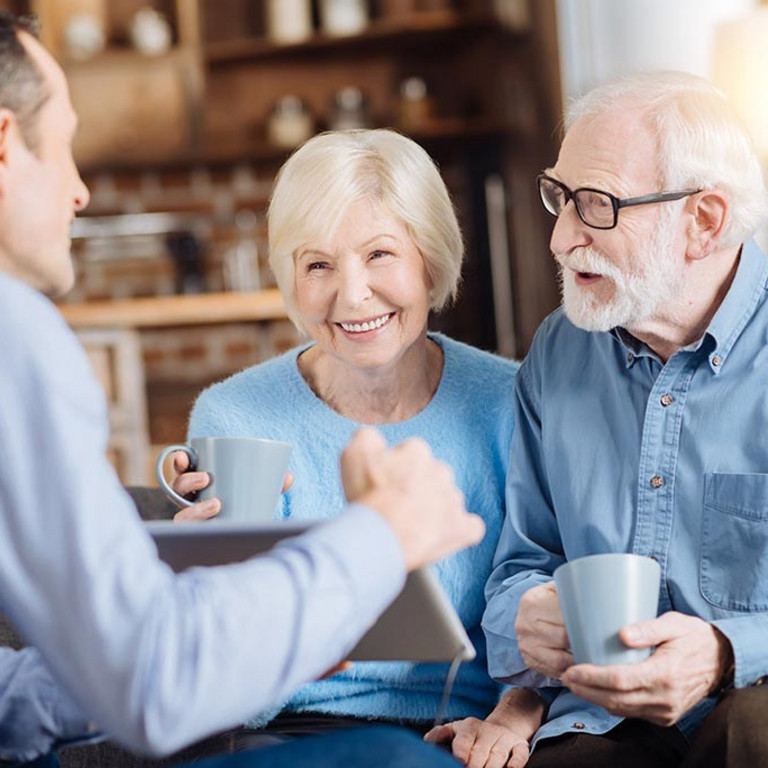
[[[38,12],[44,41],[68,70],[87,180],[107,175],[118,190],[123,174],[217,173],[242,163],[268,180],[289,151],[270,143],[267,130],[281,99],[297,97],[320,131],[333,124],[337,94],[359,89],[370,125],[400,128],[422,143],[457,204],[467,242],[464,284],[456,307],[433,326],[523,354],[557,302],[533,181],[555,155],[554,0],[367,0],[364,28],[342,36],[323,29],[324,3],[312,0],[313,29],[292,43],[270,37],[274,0],[11,5]],[[143,56],[129,43],[131,19],[147,5],[172,28],[171,48],[160,56]],[[62,34],[73,13],[104,25],[104,52],[85,61],[67,56]],[[512,28],[502,17],[527,23]],[[427,108],[415,121],[402,109],[409,78],[426,86]],[[132,210],[120,206],[107,212]]]

